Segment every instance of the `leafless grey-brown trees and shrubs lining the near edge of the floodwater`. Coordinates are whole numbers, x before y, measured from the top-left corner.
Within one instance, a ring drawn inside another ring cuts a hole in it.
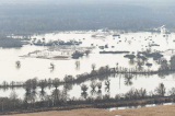
[[[42,84],[42,83],[40,83]],[[100,84],[98,84],[100,85]],[[43,86],[43,85],[40,85]],[[92,85],[91,85],[92,86]],[[102,86],[100,85],[100,89]],[[46,108],[46,107],[61,107],[61,106],[73,106],[82,104],[97,104],[97,103],[110,103],[110,102],[122,102],[131,100],[148,100],[148,98],[159,98],[164,97],[167,93],[168,96],[175,96],[175,89],[173,88],[170,92],[166,92],[165,85],[160,83],[154,92],[148,93],[145,89],[131,89],[127,93],[116,94],[115,97],[110,97],[109,94],[97,95],[96,97],[89,96],[86,94],[88,86],[83,84],[81,86],[83,98],[70,98],[68,90],[59,90],[57,86],[52,90],[51,94],[48,95],[40,93],[40,100],[38,101],[34,93],[26,91],[25,97],[23,100],[18,97],[18,94],[12,91],[9,97],[0,98],[0,112],[11,112],[11,111],[27,111],[34,108]]]

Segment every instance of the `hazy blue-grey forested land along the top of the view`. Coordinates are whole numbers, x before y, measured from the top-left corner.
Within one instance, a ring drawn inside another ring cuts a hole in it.
[[[0,32],[175,28],[172,0],[0,0]],[[8,2],[8,3],[5,3]],[[106,3],[105,3],[106,2]]]

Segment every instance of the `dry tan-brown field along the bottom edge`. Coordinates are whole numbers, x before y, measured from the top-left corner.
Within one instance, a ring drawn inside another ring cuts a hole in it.
[[[84,108],[73,111],[52,111],[2,116],[175,116],[175,105],[142,107],[109,112],[107,109]]]

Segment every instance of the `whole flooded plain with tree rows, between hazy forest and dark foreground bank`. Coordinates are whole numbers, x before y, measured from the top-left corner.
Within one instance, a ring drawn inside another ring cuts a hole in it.
[[[0,96],[16,100],[21,109],[175,95],[174,33],[100,30],[12,37],[31,44],[0,49]]]

